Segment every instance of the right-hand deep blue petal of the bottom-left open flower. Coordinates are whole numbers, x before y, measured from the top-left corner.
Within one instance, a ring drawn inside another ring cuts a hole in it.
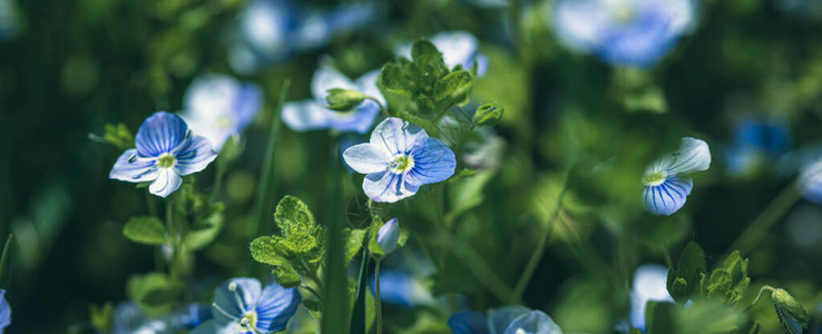
[[[276,283],[267,285],[254,307],[257,312],[256,327],[265,332],[285,330],[302,302],[296,288],[284,288]]]

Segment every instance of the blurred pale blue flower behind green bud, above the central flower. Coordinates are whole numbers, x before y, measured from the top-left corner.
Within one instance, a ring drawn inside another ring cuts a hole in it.
[[[325,95],[331,88],[345,88],[362,91],[380,100],[385,100],[376,88],[379,70],[368,72],[351,81],[343,73],[329,66],[321,66],[311,80],[311,92],[314,99],[287,102],[283,106],[283,122],[295,131],[334,129],[344,132],[365,134],[380,114],[380,106],[372,100],[364,100],[350,111],[332,111],[325,108]]]

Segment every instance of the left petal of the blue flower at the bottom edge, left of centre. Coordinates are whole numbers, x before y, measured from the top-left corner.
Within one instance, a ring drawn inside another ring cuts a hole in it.
[[[231,291],[229,286],[235,285],[235,289]],[[219,312],[217,307],[227,312],[232,316],[241,317],[243,313],[252,311],[257,297],[261,293],[260,281],[256,278],[232,278],[223,283],[214,292],[214,304],[216,307],[212,310],[214,318],[218,324],[227,322],[236,322],[236,318],[232,318]]]

